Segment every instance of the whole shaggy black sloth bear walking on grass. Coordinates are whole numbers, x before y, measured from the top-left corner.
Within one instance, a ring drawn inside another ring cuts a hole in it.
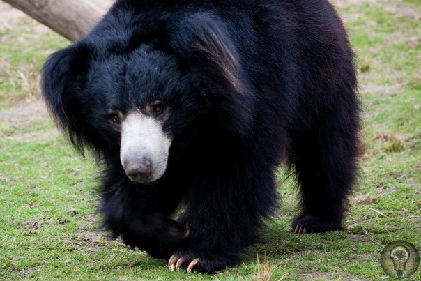
[[[292,231],[342,229],[360,105],[327,0],[118,0],[42,74],[57,126],[102,167],[105,228],[171,270],[239,261],[280,162],[300,187]]]

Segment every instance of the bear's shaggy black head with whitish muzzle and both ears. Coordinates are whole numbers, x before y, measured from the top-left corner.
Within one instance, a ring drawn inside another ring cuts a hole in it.
[[[128,178],[148,183],[185,130],[246,135],[255,97],[224,24],[208,13],[155,24],[125,13],[107,15],[43,67],[43,96],[75,148],[105,160],[118,153]]]

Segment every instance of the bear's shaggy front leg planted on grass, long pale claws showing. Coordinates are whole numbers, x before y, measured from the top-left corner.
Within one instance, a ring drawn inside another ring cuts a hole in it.
[[[257,241],[262,219],[273,211],[277,196],[270,167],[227,166],[199,172],[187,192],[179,221],[190,226],[190,236],[169,259],[171,271],[214,273],[236,264]]]

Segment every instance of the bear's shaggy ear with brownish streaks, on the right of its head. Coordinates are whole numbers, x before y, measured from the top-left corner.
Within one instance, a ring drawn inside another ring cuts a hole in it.
[[[228,130],[247,133],[255,98],[241,68],[240,54],[226,24],[210,13],[194,13],[171,22],[169,45],[187,68],[203,73],[207,99]],[[207,87],[206,87],[207,86]]]

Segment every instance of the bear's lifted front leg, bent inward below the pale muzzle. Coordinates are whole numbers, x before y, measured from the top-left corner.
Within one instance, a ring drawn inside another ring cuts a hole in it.
[[[130,247],[169,259],[190,234],[185,224],[169,218],[178,204],[176,197],[163,197],[166,191],[160,185],[141,185],[124,178],[114,183],[112,179],[105,179],[100,194],[103,226]]]

